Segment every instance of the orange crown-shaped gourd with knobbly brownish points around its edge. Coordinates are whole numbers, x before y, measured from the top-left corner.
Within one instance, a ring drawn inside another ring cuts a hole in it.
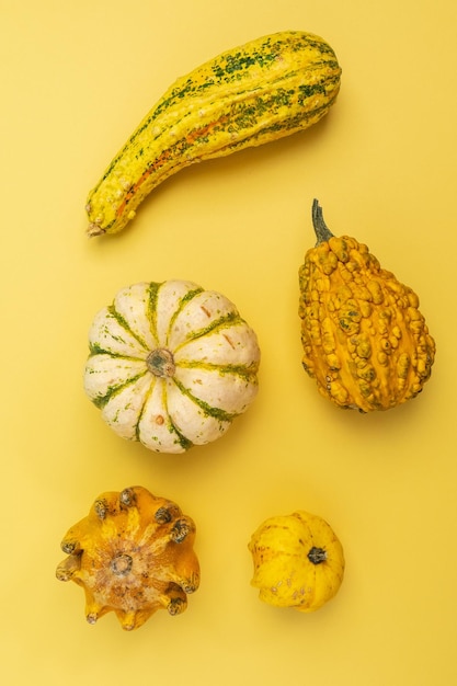
[[[130,631],[158,609],[186,609],[199,585],[194,539],[194,522],[175,503],[142,487],[102,493],[66,534],[56,575],[83,587],[89,624],[114,611]]]

